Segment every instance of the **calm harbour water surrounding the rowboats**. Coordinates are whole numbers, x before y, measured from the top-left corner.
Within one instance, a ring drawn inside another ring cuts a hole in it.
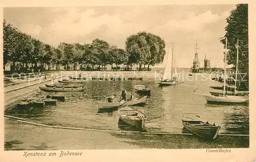
[[[172,133],[186,132],[182,125],[183,111],[196,111],[201,120],[220,125],[220,133],[249,134],[248,105],[211,105],[196,92],[209,94],[209,86],[219,85],[214,81],[202,82],[196,75],[184,79],[184,83],[161,87],[154,79],[125,80],[125,81],[88,81],[83,85],[87,89],[83,92],[54,92],[64,95],[65,102],[57,102],[56,106],[20,110],[17,107],[7,109],[5,114],[27,118],[29,121],[68,127],[133,130],[119,121],[117,111],[98,111],[97,102],[112,94],[117,97],[123,89],[128,95],[134,91],[134,85],[143,84],[152,89],[152,94],[143,106],[131,106],[143,110],[148,116],[145,123],[147,131],[165,131]],[[136,93],[135,97],[138,96]]]

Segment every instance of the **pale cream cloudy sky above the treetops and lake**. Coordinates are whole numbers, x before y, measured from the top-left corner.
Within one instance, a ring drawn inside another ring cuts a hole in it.
[[[57,46],[91,43],[99,38],[125,47],[125,40],[139,31],[174,42],[177,67],[191,67],[198,41],[200,67],[206,54],[211,67],[223,67],[223,45],[219,38],[230,11],[236,5],[101,6],[70,8],[4,8],[4,18],[22,32]],[[165,59],[166,60],[166,59]],[[165,60],[157,66],[164,67]]]

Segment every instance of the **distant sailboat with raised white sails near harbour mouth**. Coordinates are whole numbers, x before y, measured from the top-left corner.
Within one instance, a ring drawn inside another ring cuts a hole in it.
[[[163,78],[161,78],[160,82],[157,82],[159,85],[175,85],[178,82],[177,69],[174,63],[174,50],[171,47],[172,44],[170,44],[170,47],[169,47],[169,52],[168,52],[167,61],[164,68]],[[172,55],[170,55],[171,49],[172,49]],[[173,77],[173,63],[175,67],[175,77]]]

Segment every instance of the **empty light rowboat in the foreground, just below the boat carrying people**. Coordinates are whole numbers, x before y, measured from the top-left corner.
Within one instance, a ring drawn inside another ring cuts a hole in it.
[[[142,129],[147,120],[146,115],[138,110],[135,110],[131,107],[123,107],[118,110],[120,119],[131,126],[135,126],[138,129]]]

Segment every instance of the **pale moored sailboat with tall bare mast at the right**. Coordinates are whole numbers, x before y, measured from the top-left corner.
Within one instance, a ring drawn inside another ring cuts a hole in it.
[[[205,100],[208,103],[245,103],[248,101],[247,98],[243,98],[240,96],[227,96],[226,95],[226,59],[227,59],[227,38],[226,38],[226,45],[225,45],[225,63],[224,63],[224,87],[223,87],[223,95],[214,96],[214,95],[206,95],[201,94],[204,96]]]

